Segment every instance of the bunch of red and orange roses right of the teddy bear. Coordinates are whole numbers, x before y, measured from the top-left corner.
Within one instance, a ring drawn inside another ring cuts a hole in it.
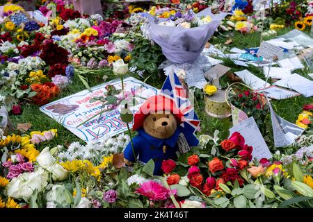
[[[238,182],[243,185],[244,180],[239,176],[239,171],[248,167],[248,163],[252,160],[252,146],[245,144],[245,139],[240,133],[235,132],[229,139],[223,140],[220,143],[221,150],[227,157],[227,160],[220,160],[218,157],[206,162],[208,170],[201,171],[203,164],[200,166],[201,159],[199,155],[190,155],[186,163],[188,164],[188,172],[186,174],[189,184],[202,191],[203,194],[209,196],[212,191],[220,190],[220,183],[227,184]],[[224,156],[224,155],[221,155]],[[175,173],[177,164],[173,160],[164,160],[161,169],[168,174],[168,185],[178,184],[182,179],[178,173]],[[204,175],[207,174],[207,179],[204,180]]]

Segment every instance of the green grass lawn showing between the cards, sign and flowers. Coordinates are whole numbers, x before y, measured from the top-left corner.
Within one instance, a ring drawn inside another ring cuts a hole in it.
[[[291,31],[292,28],[284,28],[283,30],[278,32],[278,35],[282,35],[284,33],[287,33],[288,31]],[[268,40],[275,37],[272,35],[271,37],[264,37],[264,40]],[[222,44],[226,42],[226,40],[229,37],[215,37],[210,40],[211,44]],[[231,37],[234,42],[230,45],[231,47],[238,47],[239,49],[243,49],[244,47],[250,48],[250,47],[256,47],[259,46],[260,41],[260,33],[252,33],[250,35],[241,35],[240,33],[236,32],[234,36]],[[236,67],[233,64],[226,64],[227,66],[232,67],[232,71],[238,71],[243,70],[243,67]],[[249,67],[248,70],[250,70],[253,74],[256,76],[259,76],[259,78],[262,78],[265,80],[264,75],[262,74],[262,69],[258,67]],[[307,76],[308,71],[303,73],[301,70],[296,71],[298,74],[301,74],[305,76],[306,78],[310,78]],[[87,75],[88,78],[88,84],[90,87],[93,87],[95,85],[99,85],[101,83],[104,83],[104,80],[102,76],[108,76],[106,81],[112,80],[116,78],[116,76],[109,72],[105,72],[103,74],[90,74]],[[139,78],[138,76],[135,76],[136,78]],[[143,79],[141,79],[143,80]],[[149,78],[147,80],[147,83],[160,88],[163,84],[163,80],[165,80],[165,76],[161,75],[157,78]],[[67,87],[67,89],[63,90],[63,92],[55,99],[61,99],[65,96],[69,96],[71,94],[74,94],[76,92],[80,92],[81,90],[86,89],[84,85],[79,80],[78,76],[75,74],[73,83]],[[197,101],[198,105],[195,106],[195,110],[201,120],[201,132],[200,133],[207,133],[207,134],[213,134],[215,129],[223,130],[227,132],[227,129],[230,127],[230,119],[215,119],[210,118],[207,116],[207,114],[204,112],[204,100],[198,97]],[[313,96],[310,98],[305,98],[304,96],[296,96],[292,99],[284,99],[280,101],[272,101],[273,108],[275,112],[280,115],[280,117],[286,119],[287,121],[291,121],[294,123],[298,117],[298,114],[302,111],[303,105],[307,103],[313,103]],[[53,141],[49,142],[49,146],[58,145],[58,144],[70,144],[74,141],[83,142],[81,139],[76,137],[74,134],[72,134],[69,130],[61,126],[61,124],[57,123],[50,117],[48,117],[46,114],[39,111],[39,107],[33,104],[26,103],[22,105],[22,114],[18,116],[11,115],[10,118],[13,121],[13,125],[17,125],[17,123],[31,123],[32,127],[31,130],[49,130],[51,128],[56,128],[58,130],[58,137],[54,139]],[[266,139],[266,142],[269,143],[269,146],[273,147],[273,140],[271,138],[271,131],[268,133],[269,138]],[[42,144],[42,147],[45,147],[47,144]]]

